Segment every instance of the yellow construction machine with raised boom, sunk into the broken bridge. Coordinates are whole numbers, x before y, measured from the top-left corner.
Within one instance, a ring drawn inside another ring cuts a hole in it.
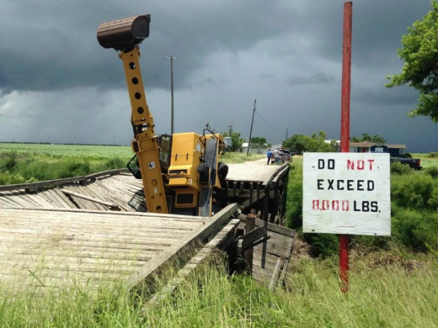
[[[140,72],[140,43],[149,37],[150,15],[132,16],[99,25],[97,40],[114,49],[123,62],[132,108],[135,156],[128,169],[142,179],[148,212],[210,217],[222,208],[228,166],[219,162],[225,151],[223,136],[207,123],[195,132],[155,135]],[[208,132],[208,134],[206,134]]]

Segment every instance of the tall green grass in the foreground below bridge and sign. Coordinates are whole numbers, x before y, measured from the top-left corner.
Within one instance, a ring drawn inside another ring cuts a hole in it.
[[[228,276],[210,259],[155,307],[123,283],[58,288],[40,295],[0,290],[1,327],[436,327],[436,258],[356,256],[349,293],[339,290],[337,263],[295,259],[286,288],[274,292],[248,276]],[[40,288],[38,290],[41,290]]]

